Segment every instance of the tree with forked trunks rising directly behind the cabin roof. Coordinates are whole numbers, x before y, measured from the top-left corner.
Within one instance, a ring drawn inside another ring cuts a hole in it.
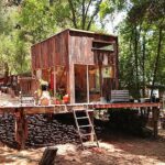
[[[89,31],[99,16],[102,0],[57,0],[52,1],[56,15],[57,24],[63,21],[75,29]]]

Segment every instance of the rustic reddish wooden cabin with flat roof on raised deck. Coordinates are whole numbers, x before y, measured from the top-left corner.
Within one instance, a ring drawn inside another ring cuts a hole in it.
[[[32,74],[70,103],[110,100],[118,89],[118,37],[67,29],[31,47]]]

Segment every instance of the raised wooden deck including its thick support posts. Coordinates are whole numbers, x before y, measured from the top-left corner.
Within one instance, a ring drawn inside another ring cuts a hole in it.
[[[13,103],[14,102],[14,103]],[[28,123],[26,123],[26,114],[36,114],[36,113],[72,113],[73,109],[89,108],[91,109],[91,118],[92,110],[102,110],[108,109],[111,110],[113,108],[133,108],[141,109],[145,111],[152,112],[153,120],[153,135],[154,138],[158,134],[157,121],[160,116],[161,103],[158,102],[124,102],[124,103],[74,103],[74,105],[51,105],[51,106],[23,106],[19,101],[15,100],[12,103],[4,105],[2,101],[0,102],[0,114],[13,113],[15,117],[15,141],[20,143],[20,147],[24,148],[25,140],[28,136]]]

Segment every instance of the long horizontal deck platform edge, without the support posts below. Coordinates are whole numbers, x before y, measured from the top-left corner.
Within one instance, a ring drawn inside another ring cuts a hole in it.
[[[50,105],[50,106],[23,106],[19,105],[9,105],[0,106],[0,113],[14,112],[15,110],[23,110],[24,114],[35,114],[35,113],[68,113],[73,112],[73,109],[88,108],[90,110],[101,110],[101,109],[114,109],[114,108],[147,108],[151,110],[157,110],[161,108],[158,102],[144,102],[144,103],[74,103],[74,105]]]

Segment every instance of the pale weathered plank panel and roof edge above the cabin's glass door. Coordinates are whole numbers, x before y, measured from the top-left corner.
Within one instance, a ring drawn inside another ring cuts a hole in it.
[[[113,42],[116,44],[117,37],[103,34],[85,33],[77,31],[69,31],[69,62],[73,64],[98,65],[96,55],[99,51],[92,50],[94,41]],[[101,52],[100,54],[109,55],[109,52]],[[111,53],[116,56],[116,53]]]

